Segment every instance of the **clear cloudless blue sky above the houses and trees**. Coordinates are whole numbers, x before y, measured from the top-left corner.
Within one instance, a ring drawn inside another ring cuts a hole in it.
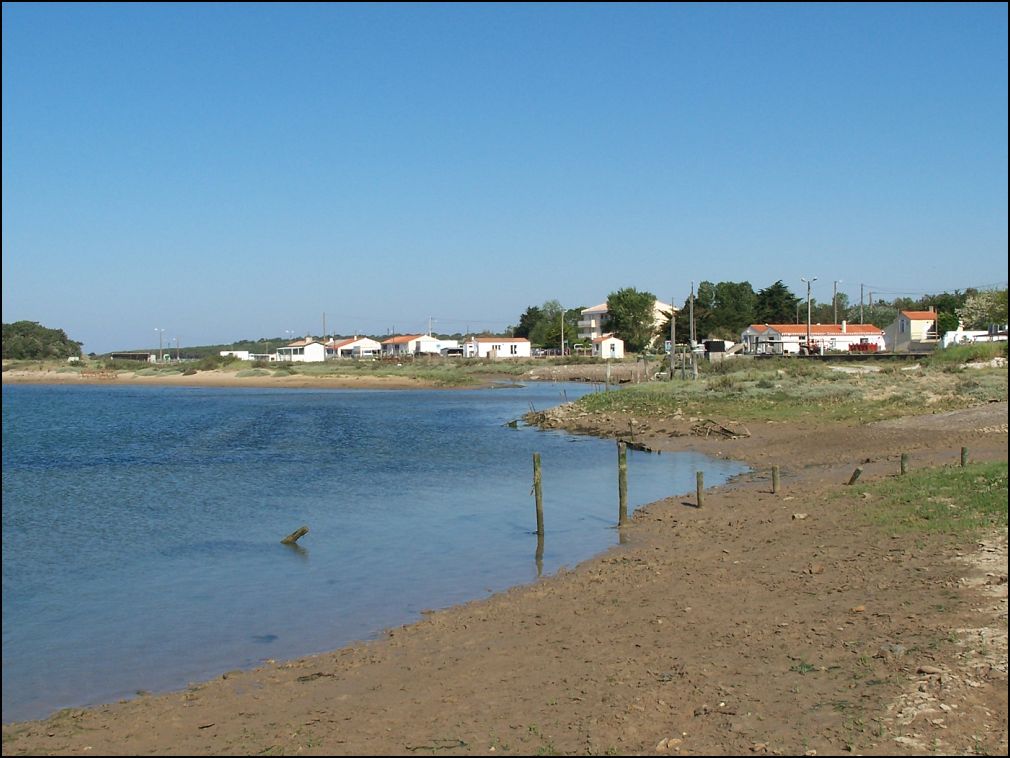
[[[1007,139],[1005,3],[4,4],[3,320],[102,353],[1002,287]]]

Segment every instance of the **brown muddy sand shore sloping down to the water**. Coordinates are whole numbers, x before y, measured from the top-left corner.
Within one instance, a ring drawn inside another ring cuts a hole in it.
[[[621,545],[571,570],[376,641],[5,725],[4,755],[1007,753],[1006,533],[887,534],[845,485],[855,466],[895,476],[901,453],[1006,461],[1006,402],[743,439],[634,429],[753,473],[702,508],[692,493],[638,510]]]

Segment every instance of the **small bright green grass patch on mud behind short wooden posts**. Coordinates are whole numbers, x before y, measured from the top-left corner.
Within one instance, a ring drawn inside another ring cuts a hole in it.
[[[1005,461],[922,469],[853,490],[872,495],[864,513],[893,533],[975,538],[1007,529]]]

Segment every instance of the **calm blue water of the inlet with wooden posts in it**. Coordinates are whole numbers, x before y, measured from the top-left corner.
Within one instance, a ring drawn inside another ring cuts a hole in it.
[[[3,721],[375,637],[613,545],[612,441],[504,424],[591,391],[3,387]],[[564,393],[564,395],[563,395]],[[739,464],[629,451],[632,505]],[[280,539],[301,526],[298,546]]]

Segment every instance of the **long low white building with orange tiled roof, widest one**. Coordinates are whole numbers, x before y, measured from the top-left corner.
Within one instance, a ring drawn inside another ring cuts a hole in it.
[[[817,353],[877,353],[884,350],[884,331],[872,323],[751,323],[740,335],[751,355],[798,355],[810,342]]]

